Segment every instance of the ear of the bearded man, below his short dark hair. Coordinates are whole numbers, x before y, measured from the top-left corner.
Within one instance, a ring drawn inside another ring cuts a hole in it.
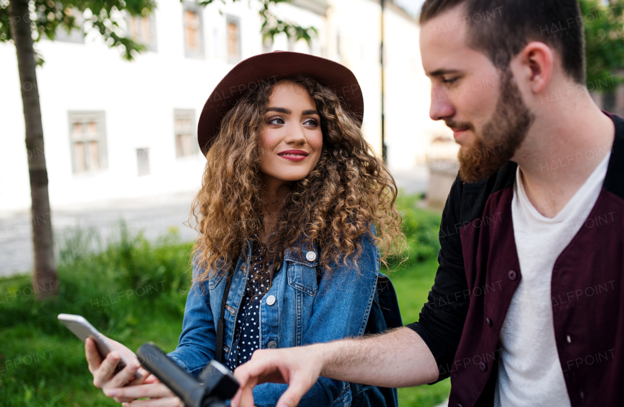
[[[533,93],[542,93],[550,82],[554,55],[544,42],[529,42],[514,58],[520,72],[520,80],[525,80]]]

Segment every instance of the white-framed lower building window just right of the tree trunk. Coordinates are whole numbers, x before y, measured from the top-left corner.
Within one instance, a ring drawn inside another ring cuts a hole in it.
[[[87,173],[107,168],[104,112],[69,112],[74,173]]]

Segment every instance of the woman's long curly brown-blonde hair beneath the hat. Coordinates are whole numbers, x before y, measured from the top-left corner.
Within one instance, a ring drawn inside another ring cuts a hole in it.
[[[306,242],[318,244],[323,272],[331,272],[332,263],[346,264],[350,256],[355,264],[362,250],[358,239],[364,234],[378,245],[384,264],[388,256],[400,256],[405,236],[394,204],[396,184],[364,140],[360,121],[344,110],[333,90],[316,80],[301,76],[286,80],[302,85],[316,101],[323,149],[314,170],[280,192],[281,211],[265,246],[271,277],[285,249],[301,257],[297,246]],[[263,231],[261,138],[273,87],[263,84],[241,97],[223,117],[206,154],[202,188],[190,215],[199,232],[195,261],[206,271],[195,276],[196,283],[236,261],[246,242]]]

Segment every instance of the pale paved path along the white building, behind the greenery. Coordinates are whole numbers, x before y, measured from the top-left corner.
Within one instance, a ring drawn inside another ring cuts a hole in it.
[[[425,167],[394,173],[397,185],[408,194],[426,191],[428,175]],[[180,193],[53,208],[52,227],[55,239],[62,239],[74,227],[95,227],[105,241],[119,235],[120,219],[124,219],[132,234],[143,231],[150,240],[177,227],[184,241],[193,241],[197,232],[183,224],[191,201],[192,193]],[[30,212],[0,214],[0,277],[31,270]]]

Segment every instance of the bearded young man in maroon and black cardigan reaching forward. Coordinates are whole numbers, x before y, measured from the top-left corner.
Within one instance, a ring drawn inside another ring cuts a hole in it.
[[[258,350],[235,371],[401,387],[451,376],[450,406],[613,406],[624,400],[624,120],[585,87],[576,0],[427,0],[431,118],[460,171],[419,322],[374,337]],[[556,31],[555,31],[556,30]]]

